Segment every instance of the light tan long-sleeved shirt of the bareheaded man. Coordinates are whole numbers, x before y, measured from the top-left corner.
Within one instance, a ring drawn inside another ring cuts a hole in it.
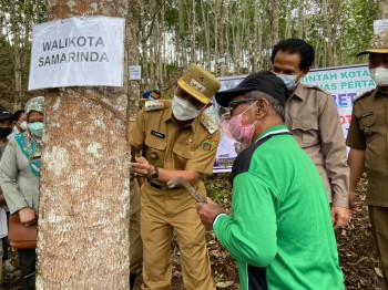
[[[331,95],[299,83],[286,102],[286,125],[313,159],[333,206],[348,207],[349,167],[338,111]]]

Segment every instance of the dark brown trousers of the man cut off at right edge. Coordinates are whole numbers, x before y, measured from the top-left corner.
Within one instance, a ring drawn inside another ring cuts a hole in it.
[[[382,262],[384,289],[388,290],[388,208],[378,206],[368,206],[369,219]]]

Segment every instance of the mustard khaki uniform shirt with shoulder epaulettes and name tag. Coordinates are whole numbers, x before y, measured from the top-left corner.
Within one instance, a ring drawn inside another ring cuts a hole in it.
[[[143,156],[156,167],[212,174],[219,142],[216,124],[203,113],[191,124],[178,127],[173,118],[171,101],[152,102],[159,105],[149,108],[145,105],[140,111],[130,135],[130,145],[136,152],[144,149]],[[205,196],[202,180],[196,187]]]

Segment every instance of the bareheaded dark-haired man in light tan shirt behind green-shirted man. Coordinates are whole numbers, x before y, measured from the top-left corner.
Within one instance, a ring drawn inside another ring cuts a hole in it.
[[[314,49],[300,39],[286,39],[273,48],[272,62],[292,95],[285,123],[324,180],[334,228],[344,227],[350,219],[349,168],[338,111],[328,92],[300,83],[313,65]]]

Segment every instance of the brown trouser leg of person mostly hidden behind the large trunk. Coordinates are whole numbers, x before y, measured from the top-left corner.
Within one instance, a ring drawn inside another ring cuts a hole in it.
[[[137,180],[131,182],[130,209],[130,272],[139,273],[143,263],[143,244],[140,237],[140,187]]]

